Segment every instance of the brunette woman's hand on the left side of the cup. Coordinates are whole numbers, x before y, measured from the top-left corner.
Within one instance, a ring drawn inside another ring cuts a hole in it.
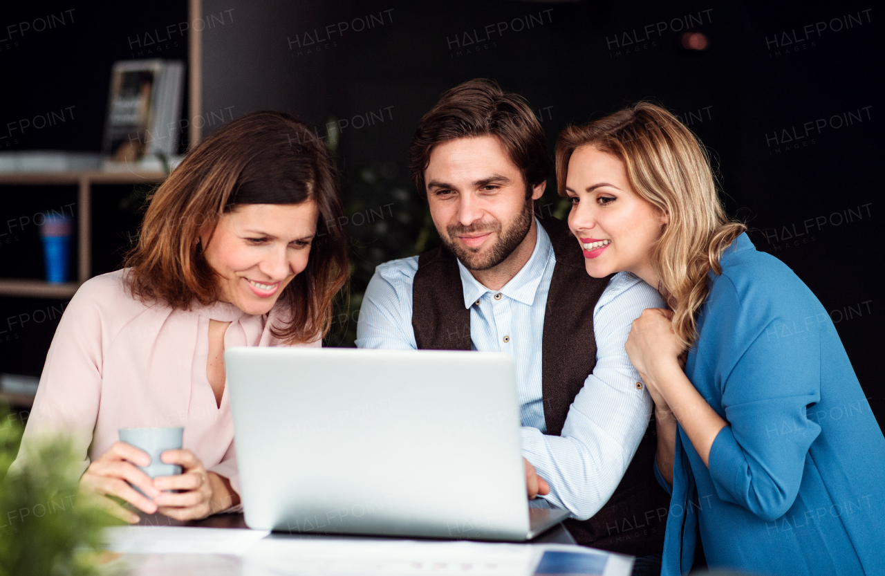
[[[138,469],[139,465],[150,465],[150,456],[147,453],[126,442],[114,442],[107,452],[89,464],[89,468],[80,479],[81,491],[116,496],[142,512],[153,514],[157,511],[157,504],[132,488],[137,486],[150,497],[160,494],[160,491],[154,488],[150,476]],[[101,498],[98,502],[112,516],[130,524],[140,519],[138,514],[127,510],[111,498]]]

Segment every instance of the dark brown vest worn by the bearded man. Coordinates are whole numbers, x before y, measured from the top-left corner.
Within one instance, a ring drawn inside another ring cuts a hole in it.
[[[589,276],[581,248],[564,222],[548,217],[543,227],[556,255],[543,325],[544,420],[546,434],[559,435],[574,396],[596,365],[593,309],[609,278]],[[419,349],[470,349],[470,310],[464,307],[458,260],[444,246],[418,258],[412,306],[412,328]],[[670,496],[655,480],[654,430],[652,421],[602,510],[589,520],[566,520],[579,544],[633,556],[664,549]]]

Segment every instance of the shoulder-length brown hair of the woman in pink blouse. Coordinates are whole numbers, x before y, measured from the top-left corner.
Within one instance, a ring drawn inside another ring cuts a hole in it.
[[[144,302],[190,310],[219,300],[218,274],[203,256],[219,218],[242,204],[301,204],[319,209],[307,267],[283,289],[287,313],[273,335],[287,343],[327,334],[332,301],[350,265],[335,165],[326,147],[288,114],[258,111],[236,119],[190,150],[150,196],[138,243],[127,254],[129,289]]]

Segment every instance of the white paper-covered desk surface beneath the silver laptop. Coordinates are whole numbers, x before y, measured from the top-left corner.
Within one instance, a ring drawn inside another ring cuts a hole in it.
[[[563,558],[588,566],[587,572],[573,573],[623,576],[629,574],[632,567],[629,557],[604,557],[602,553],[577,547],[562,525],[527,544],[513,544],[322,534],[265,536],[266,533],[244,530],[242,514],[219,515],[189,522],[187,526],[154,515],[142,518],[140,524],[135,531],[124,528],[116,533],[119,536],[116,549],[128,553],[113,555],[106,566],[109,570],[121,569],[130,576],[425,573],[531,576],[542,557],[548,566],[561,563]],[[196,530],[189,532],[192,527]],[[236,530],[221,538],[212,534],[226,528]],[[133,553],[142,551],[150,553]],[[170,551],[175,553],[167,553]]]

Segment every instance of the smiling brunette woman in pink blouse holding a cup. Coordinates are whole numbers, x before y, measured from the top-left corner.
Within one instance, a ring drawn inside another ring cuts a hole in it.
[[[127,267],[73,296],[22,445],[64,431],[83,455],[81,488],[145,513],[237,506],[224,349],[320,345],[349,269],[341,216],[334,165],[303,123],[261,111],[220,127],[150,198]],[[163,454],[180,476],[151,480],[135,467],[147,454],[118,442],[119,428],[148,426],[184,427],[183,449]]]

